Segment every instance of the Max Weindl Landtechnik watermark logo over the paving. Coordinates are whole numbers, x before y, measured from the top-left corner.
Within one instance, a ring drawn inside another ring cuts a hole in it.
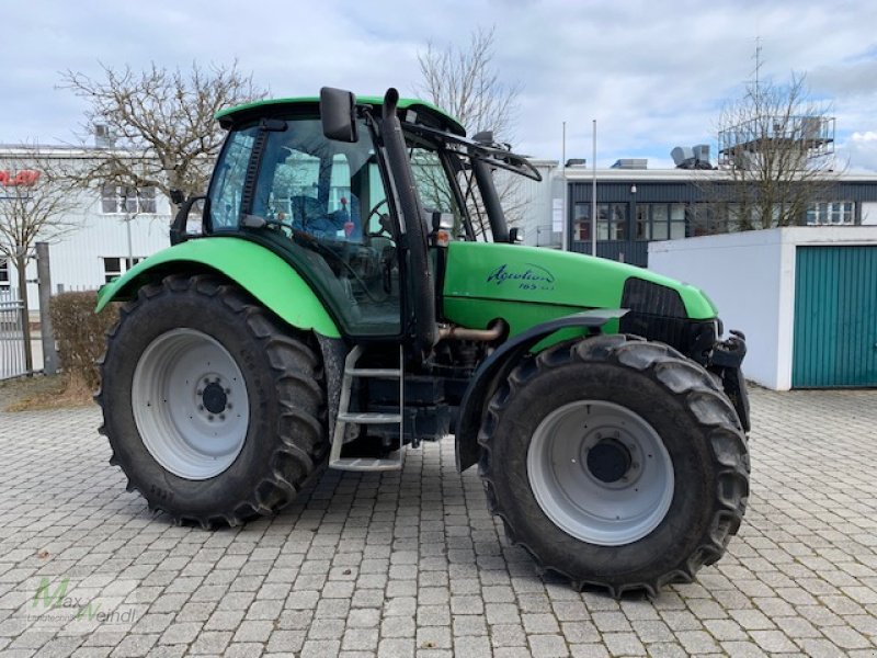
[[[137,609],[129,602],[136,587],[134,580],[107,583],[96,577],[53,580],[44,576],[33,590],[27,621],[41,627],[122,631],[133,626],[137,617]]]

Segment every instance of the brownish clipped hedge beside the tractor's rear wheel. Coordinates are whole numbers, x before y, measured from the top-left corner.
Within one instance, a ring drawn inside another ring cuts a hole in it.
[[[111,304],[95,314],[96,305],[96,292],[60,293],[49,304],[61,367],[92,390],[101,383],[94,362],[103,354],[106,331],[118,319],[117,305]]]

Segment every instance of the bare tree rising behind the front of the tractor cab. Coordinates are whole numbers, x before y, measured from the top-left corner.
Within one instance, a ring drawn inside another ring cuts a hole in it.
[[[421,83],[418,94],[442,107],[466,126],[470,135],[490,131],[494,141],[511,141],[517,114],[517,83],[504,83],[493,65],[494,31],[478,29],[471,33],[465,47],[436,47],[432,42],[426,52],[418,55]],[[436,172],[437,173],[437,172]],[[469,214],[477,218],[476,232],[486,232],[483,204],[475,181],[462,174]],[[517,223],[524,205],[516,193],[516,177],[497,177],[497,192],[510,224]],[[437,195],[443,195],[436,182]]]

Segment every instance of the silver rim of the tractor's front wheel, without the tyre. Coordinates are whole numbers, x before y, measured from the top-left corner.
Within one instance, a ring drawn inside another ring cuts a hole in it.
[[[673,500],[673,462],[639,415],[604,400],[555,409],[533,433],[527,476],[545,514],[601,546],[641,540]]]

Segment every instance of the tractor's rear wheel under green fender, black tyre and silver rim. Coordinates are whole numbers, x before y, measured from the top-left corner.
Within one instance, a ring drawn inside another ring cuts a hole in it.
[[[107,336],[101,377],[111,463],[178,522],[273,513],[324,463],[315,350],[215,277],[140,288]]]

